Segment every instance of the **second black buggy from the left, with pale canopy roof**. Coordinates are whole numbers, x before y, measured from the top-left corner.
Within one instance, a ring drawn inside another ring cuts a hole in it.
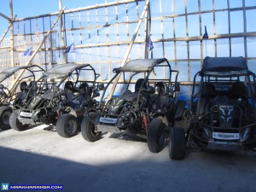
[[[61,137],[73,137],[79,131],[84,111],[96,105],[93,98],[98,96],[97,77],[90,64],[56,65],[28,90],[27,96],[33,90],[36,96],[26,98],[24,106],[14,106],[11,127],[24,131],[28,125],[52,125]]]

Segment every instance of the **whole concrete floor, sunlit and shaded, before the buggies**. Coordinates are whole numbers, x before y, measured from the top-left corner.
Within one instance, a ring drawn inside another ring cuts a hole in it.
[[[147,143],[131,140],[106,134],[88,143],[44,126],[1,131],[0,183],[61,184],[70,192],[256,191],[255,153],[188,151],[177,161],[167,148],[152,154]]]

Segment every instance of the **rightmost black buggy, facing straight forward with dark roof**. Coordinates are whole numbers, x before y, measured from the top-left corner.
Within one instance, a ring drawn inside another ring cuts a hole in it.
[[[195,81],[199,77],[197,89]],[[186,146],[253,150],[256,147],[255,88],[255,74],[248,70],[245,58],[206,57],[201,71],[195,74],[186,136],[183,127],[171,128],[170,158],[182,160]]]

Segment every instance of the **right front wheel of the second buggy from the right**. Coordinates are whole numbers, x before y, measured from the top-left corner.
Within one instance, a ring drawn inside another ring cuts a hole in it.
[[[165,127],[161,119],[153,119],[148,126],[148,149],[152,153],[158,153],[164,148]]]

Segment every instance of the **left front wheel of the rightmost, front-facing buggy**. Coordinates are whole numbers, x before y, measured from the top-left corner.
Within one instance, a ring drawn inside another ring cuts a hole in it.
[[[169,156],[172,160],[183,160],[185,157],[185,131],[180,127],[170,128],[170,140],[168,144]]]

